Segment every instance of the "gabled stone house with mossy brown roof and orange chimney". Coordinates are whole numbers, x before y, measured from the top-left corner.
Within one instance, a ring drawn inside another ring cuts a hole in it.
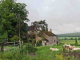
[[[57,36],[50,31],[44,31],[44,37],[45,39],[42,41],[42,45],[53,45],[53,44],[59,44],[60,41],[57,38]]]

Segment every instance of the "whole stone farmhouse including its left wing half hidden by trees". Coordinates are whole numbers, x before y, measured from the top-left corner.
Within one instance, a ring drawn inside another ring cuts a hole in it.
[[[30,27],[29,27],[28,37],[29,37],[29,39],[34,38],[36,40],[36,43],[40,40],[42,40],[42,46],[53,45],[53,44],[59,44],[60,43],[58,37],[54,33],[52,33],[51,29],[50,29],[50,31],[44,31],[43,32],[44,39],[42,39],[41,37],[36,35],[38,33],[39,33],[38,31],[37,32],[35,32],[35,31],[32,32]]]

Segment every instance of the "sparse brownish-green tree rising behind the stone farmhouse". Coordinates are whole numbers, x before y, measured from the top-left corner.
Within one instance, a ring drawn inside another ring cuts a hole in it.
[[[31,24],[31,30],[35,32],[39,31],[37,35],[43,38],[43,32],[48,31],[48,24],[45,22],[45,20],[34,21]]]

